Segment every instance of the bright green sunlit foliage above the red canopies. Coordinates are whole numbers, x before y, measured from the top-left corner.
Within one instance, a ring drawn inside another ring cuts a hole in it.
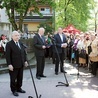
[[[66,27],[75,25],[78,29],[87,29],[87,20],[90,17],[90,0],[59,0],[56,2],[56,24]]]

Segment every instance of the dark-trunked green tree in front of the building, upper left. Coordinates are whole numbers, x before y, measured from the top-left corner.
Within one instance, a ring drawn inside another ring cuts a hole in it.
[[[38,13],[41,15],[38,9],[38,4],[49,4],[53,5],[52,0],[0,0],[0,6],[6,8],[6,13],[9,17],[9,21],[12,24],[13,29],[17,30],[18,28],[22,31],[22,24],[24,18],[27,16],[28,10],[30,7],[34,9],[31,12]],[[19,26],[15,21],[15,13],[19,15]]]

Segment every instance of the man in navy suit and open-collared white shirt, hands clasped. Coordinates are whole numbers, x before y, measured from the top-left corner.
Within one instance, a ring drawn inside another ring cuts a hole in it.
[[[65,72],[64,71],[64,58],[65,58],[65,48],[67,47],[67,40],[66,40],[65,35],[63,34],[62,28],[58,28],[58,33],[54,35],[54,39],[55,39],[55,44],[57,48],[57,51],[55,51],[55,57],[56,57],[55,74],[58,75],[60,61],[61,61],[60,71]],[[58,55],[60,57],[60,60],[58,58]]]

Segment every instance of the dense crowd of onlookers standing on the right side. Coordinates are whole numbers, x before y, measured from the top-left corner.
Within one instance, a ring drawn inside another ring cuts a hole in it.
[[[71,37],[73,36],[73,37]],[[92,77],[97,74],[98,65],[98,35],[95,32],[86,32],[68,37],[67,53],[69,61],[75,62],[79,67],[87,67]],[[72,54],[74,56],[72,57]],[[71,59],[70,59],[71,58]]]

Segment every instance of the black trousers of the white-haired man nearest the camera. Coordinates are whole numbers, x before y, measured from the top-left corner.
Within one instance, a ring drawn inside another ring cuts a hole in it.
[[[12,92],[21,89],[23,80],[23,68],[15,68],[14,71],[9,71],[10,88]]]

